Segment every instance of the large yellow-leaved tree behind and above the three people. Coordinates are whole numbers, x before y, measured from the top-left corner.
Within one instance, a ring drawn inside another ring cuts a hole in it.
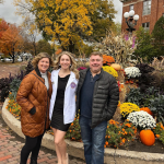
[[[57,40],[70,51],[81,47],[83,39],[98,39],[113,24],[112,0],[15,0],[20,13],[33,13],[35,22],[47,40]]]

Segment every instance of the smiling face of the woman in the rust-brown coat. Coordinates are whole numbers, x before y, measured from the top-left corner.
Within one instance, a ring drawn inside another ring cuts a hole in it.
[[[38,70],[42,72],[42,73],[45,73],[47,71],[47,69],[49,68],[49,58],[42,58],[39,61],[38,61]]]

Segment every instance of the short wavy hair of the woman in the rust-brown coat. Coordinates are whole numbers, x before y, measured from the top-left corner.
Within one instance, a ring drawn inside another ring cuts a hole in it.
[[[35,58],[32,60],[32,65],[34,68],[37,68],[38,61],[43,58],[49,59],[49,67],[54,67],[54,61],[51,57],[47,52],[39,52]]]

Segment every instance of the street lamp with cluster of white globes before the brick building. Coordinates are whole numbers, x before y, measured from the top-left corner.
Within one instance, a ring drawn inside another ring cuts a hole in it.
[[[134,15],[134,11],[131,10],[129,12],[125,12],[124,17],[126,19],[126,23],[128,25],[128,28],[126,28],[130,34],[132,34],[133,31],[136,31],[136,28],[133,28],[133,26],[137,25],[137,21],[139,20],[139,15],[136,14]],[[134,20],[134,23],[133,23]]]

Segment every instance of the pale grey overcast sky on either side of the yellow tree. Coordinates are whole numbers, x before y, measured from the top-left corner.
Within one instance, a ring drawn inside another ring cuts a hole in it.
[[[115,22],[121,23],[122,14],[122,3],[119,0],[113,0],[115,10],[117,11]],[[8,23],[15,23],[21,25],[23,22],[20,15],[15,14],[16,8],[13,5],[13,0],[3,0],[3,3],[0,3],[0,17],[4,19]]]

